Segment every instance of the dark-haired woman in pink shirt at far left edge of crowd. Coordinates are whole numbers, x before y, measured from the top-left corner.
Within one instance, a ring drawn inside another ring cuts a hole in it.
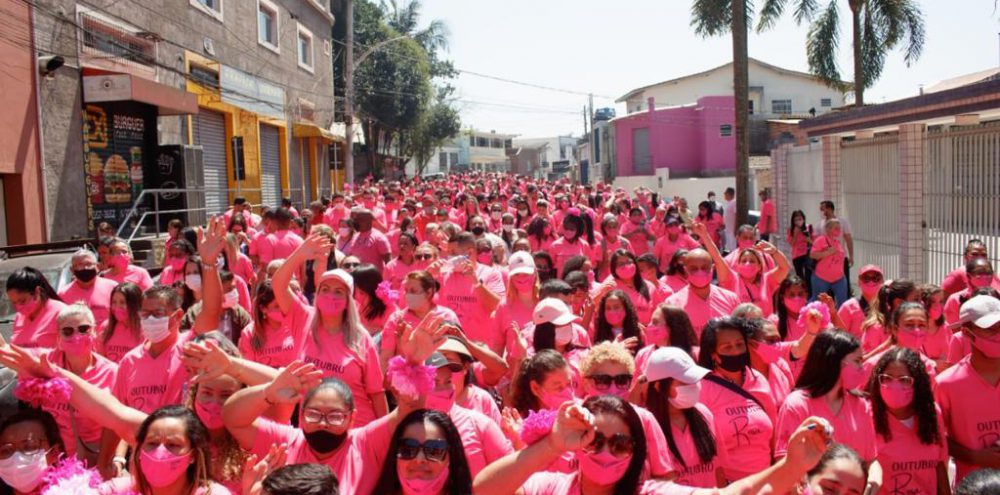
[[[17,315],[11,333],[11,343],[21,347],[56,345],[59,332],[56,321],[65,304],[42,272],[26,266],[7,277],[7,299]]]

